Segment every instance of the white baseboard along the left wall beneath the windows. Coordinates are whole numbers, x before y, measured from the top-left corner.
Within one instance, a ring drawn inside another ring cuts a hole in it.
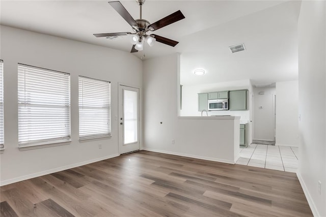
[[[15,183],[15,182],[18,182],[18,181],[23,181],[23,180],[30,179],[30,178],[35,178],[35,177],[42,176],[42,175],[47,175],[47,174],[50,174],[50,173],[55,173],[55,172],[71,169],[71,168],[74,168],[74,167],[80,167],[80,166],[83,166],[83,165],[86,165],[86,164],[91,164],[91,163],[95,163],[95,162],[98,162],[98,161],[103,161],[103,160],[110,159],[110,158],[115,158],[115,157],[118,157],[119,155],[120,154],[116,153],[116,154],[112,154],[110,156],[104,156],[104,157],[101,157],[101,158],[96,158],[96,159],[92,159],[92,160],[88,160],[88,161],[83,161],[83,162],[79,162],[79,163],[75,163],[75,164],[70,164],[70,165],[63,166],[63,167],[58,167],[58,168],[55,168],[55,169],[50,169],[50,170],[46,170],[46,171],[42,171],[42,172],[29,174],[29,175],[19,176],[17,178],[3,180],[3,181],[0,182],[0,186]]]

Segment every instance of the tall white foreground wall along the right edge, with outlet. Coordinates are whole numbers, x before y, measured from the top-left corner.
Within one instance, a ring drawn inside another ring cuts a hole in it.
[[[297,176],[315,216],[326,216],[326,2],[302,1],[298,20],[300,148]],[[321,194],[318,193],[321,181]]]

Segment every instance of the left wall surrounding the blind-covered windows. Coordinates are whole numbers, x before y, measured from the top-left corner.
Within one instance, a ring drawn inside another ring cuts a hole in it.
[[[118,82],[142,86],[142,61],[123,51],[1,26],[4,60],[5,151],[1,184],[118,155]],[[17,63],[70,73],[71,140],[69,145],[19,151]],[[112,137],[78,141],[78,75],[112,82]],[[102,149],[98,149],[98,144]]]

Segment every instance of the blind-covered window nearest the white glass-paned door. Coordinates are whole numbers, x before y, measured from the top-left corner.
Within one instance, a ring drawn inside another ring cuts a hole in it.
[[[79,139],[111,136],[111,84],[79,76]]]

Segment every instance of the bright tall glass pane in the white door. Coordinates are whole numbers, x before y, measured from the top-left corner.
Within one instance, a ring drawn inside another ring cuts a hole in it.
[[[138,141],[138,92],[123,90],[124,144]]]

